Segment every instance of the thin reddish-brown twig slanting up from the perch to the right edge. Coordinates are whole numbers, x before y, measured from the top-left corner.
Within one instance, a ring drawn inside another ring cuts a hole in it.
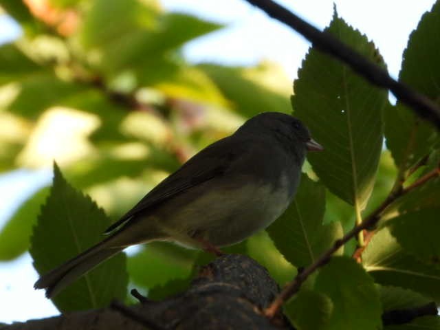
[[[300,289],[301,285],[304,283],[305,280],[318,270],[318,268],[323,267],[324,265],[327,265],[327,263],[330,261],[331,256],[333,253],[338,251],[342,245],[350,241],[353,237],[355,237],[359,232],[362,230],[366,230],[369,228],[373,228],[377,221],[380,220],[380,216],[382,212],[391,204],[393,201],[395,201],[397,198],[401,197],[402,195],[405,195],[406,193],[410,192],[411,190],[417,188],[418,186],[421,186],[422,184],[425,184],[428,180],[437,177],[440,175],[440,168],[435,168],[430,173],[424,175],[417,181],[415,181],[413,184],[406,188],[401,188],[399,190],[396,190],[395,192],[391,193],[386,197],[386,199],[380,204],[379,207],[377,207],[371,214],[369,214],[368,217],[360,223],[360,225],[356,225],[355,228],[347,232],[342,239],[338,239],[333,246],[327,250],[322,256],[320,256],[319,259],[317,259],[314,263],[306,267],[303,272],[298,273],[294,281],[287,284],[281,294],[279,294],[274,301],[272,301],[271,305],[265,309],[264,314],[268,318],[273,318],[277,313],[278,310],[281,308],[283,303],[287,301],[289,298],[291,298],[298,290]]]

